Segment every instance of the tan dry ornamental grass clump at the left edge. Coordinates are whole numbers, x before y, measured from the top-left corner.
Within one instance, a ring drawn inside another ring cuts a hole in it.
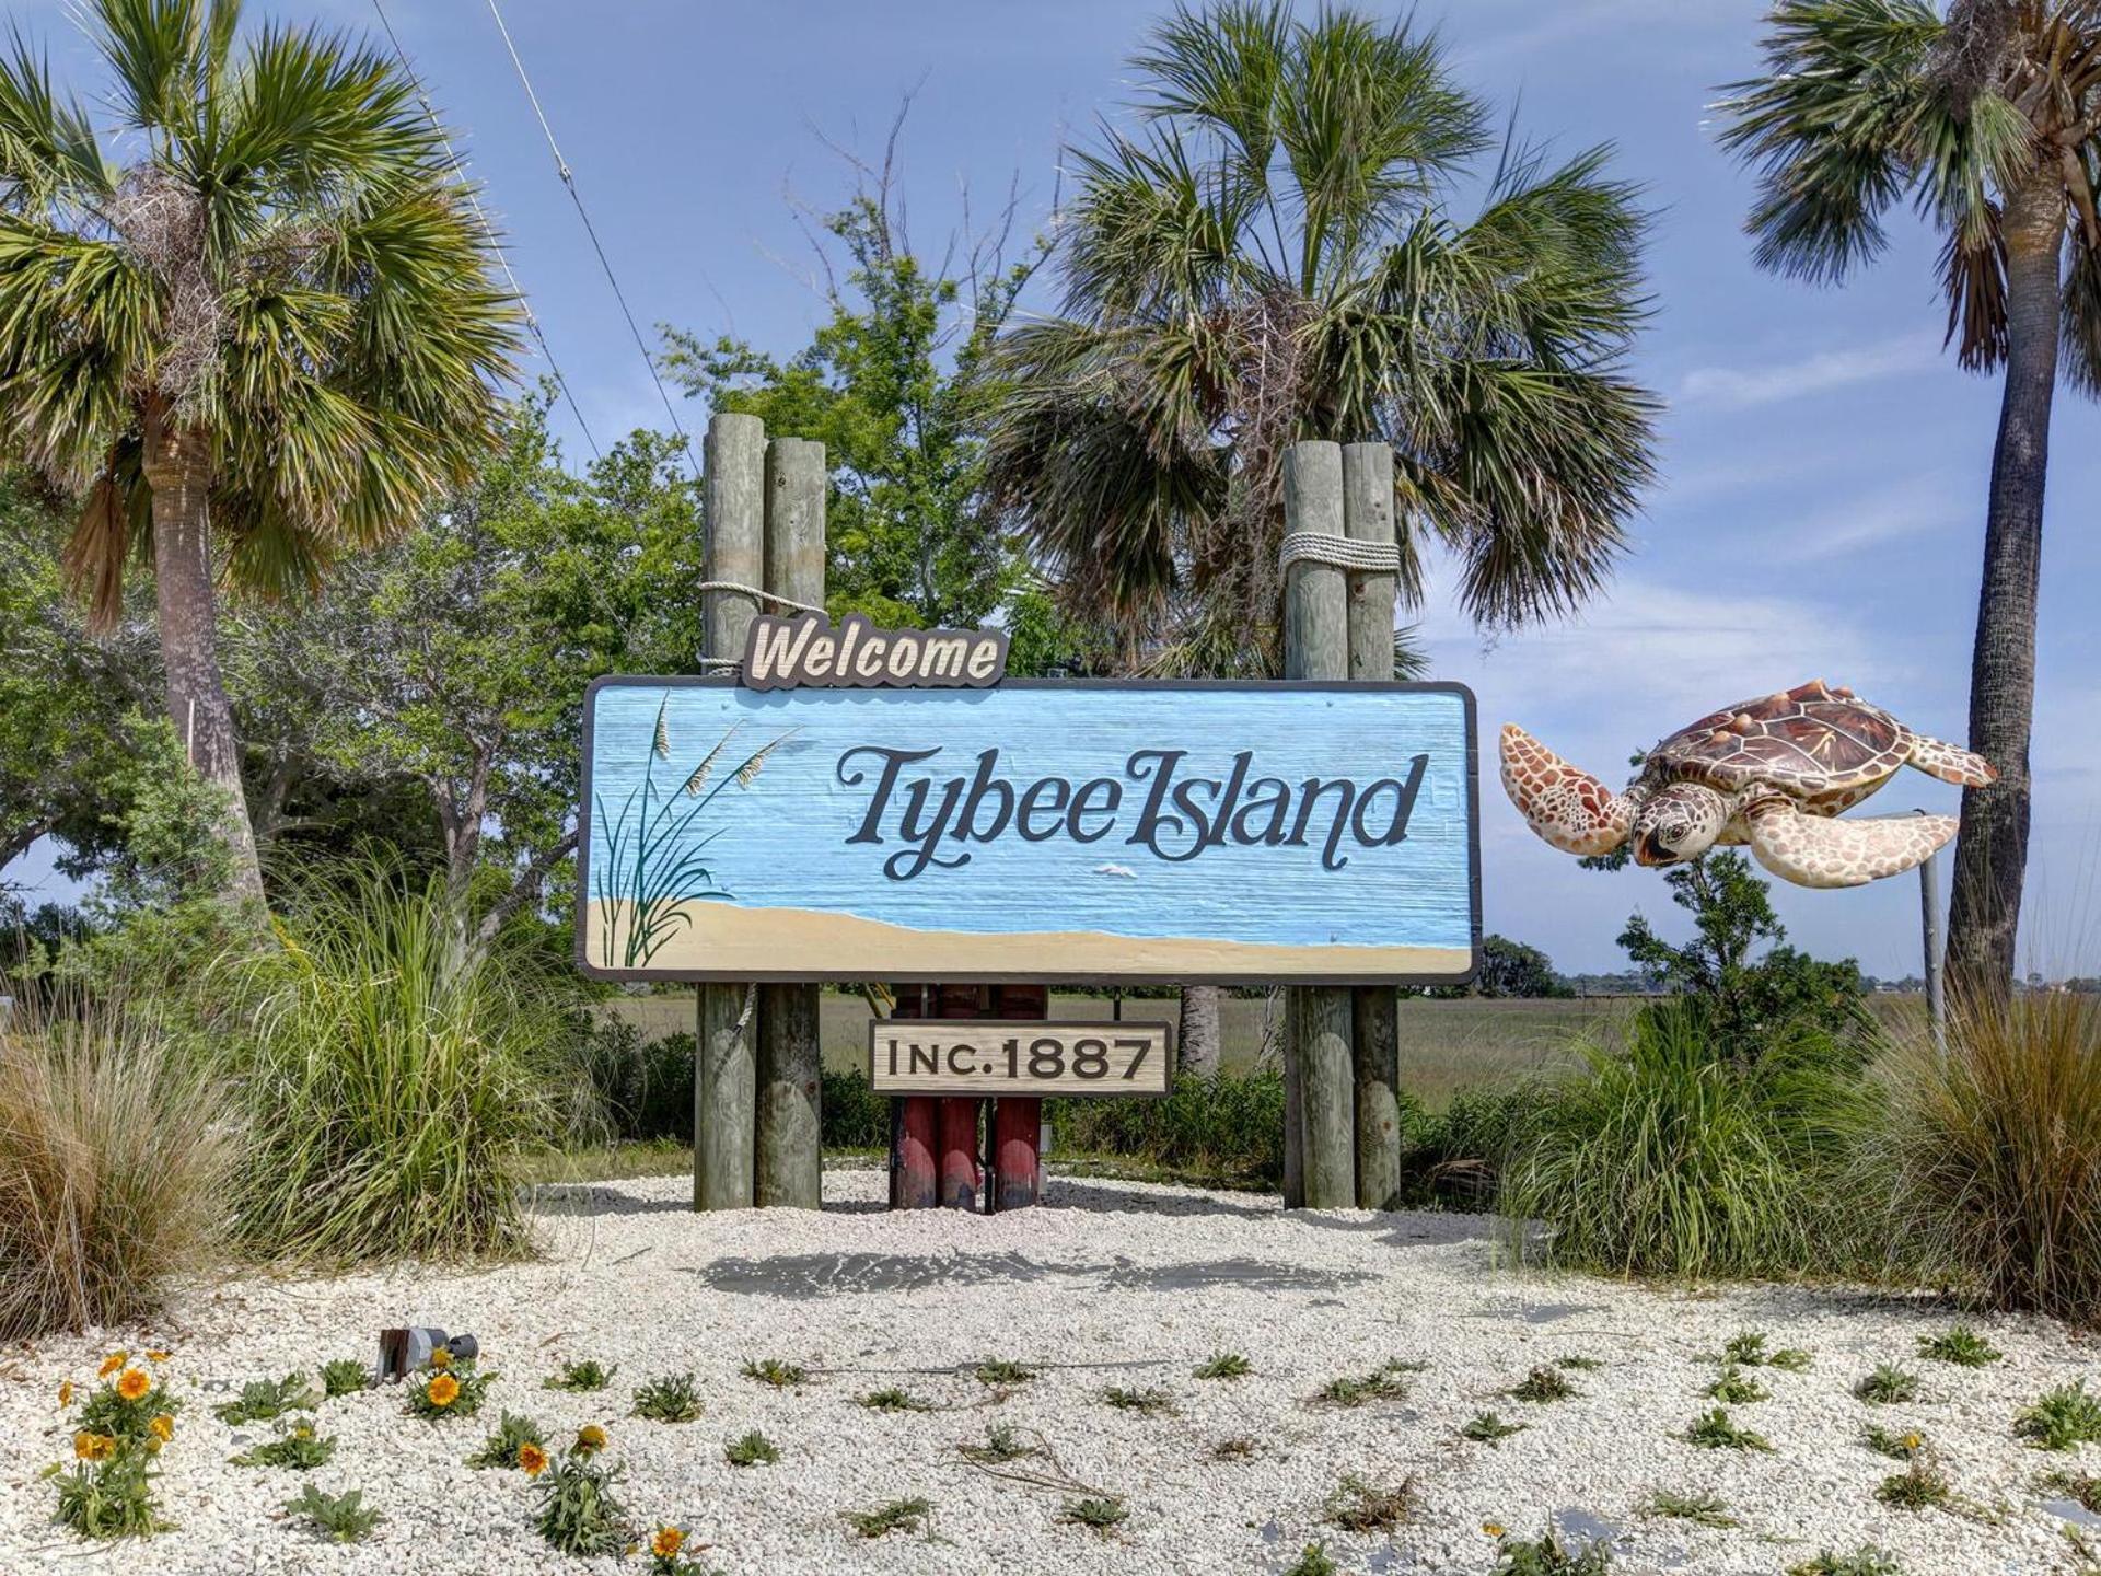
[[[225,1118],[204,1061],[122,998],[0,1015],[0,1341],[151,1313],[214,1246]]]

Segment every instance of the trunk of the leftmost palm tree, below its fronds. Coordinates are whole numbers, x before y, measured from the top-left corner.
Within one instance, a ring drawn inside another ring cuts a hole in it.
[[[233,706],[219,672],[208,521],[210,443],[202,431],[170,427],[158,410],[145,422],[145,479],[153,490],[153,593],[160,656],[168,672],[168,721],[189,765],[225,794],[219,834],[231,868],[227,895],[263,901],[263,868],[242,796]]]

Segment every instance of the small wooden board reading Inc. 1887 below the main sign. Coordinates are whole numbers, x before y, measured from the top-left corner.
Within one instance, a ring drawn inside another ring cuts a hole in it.
[[[868,1025],[878,1095],[1166,1095],[1166,1023],[891,1017]]]

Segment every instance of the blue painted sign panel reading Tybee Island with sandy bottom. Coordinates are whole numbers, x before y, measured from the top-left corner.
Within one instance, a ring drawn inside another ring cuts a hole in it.
[[[1481,935],[1462,685],[601,679],[611,979],[1445,983]]]

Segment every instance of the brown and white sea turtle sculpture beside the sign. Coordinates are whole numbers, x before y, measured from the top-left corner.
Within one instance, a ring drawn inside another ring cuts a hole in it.
[[[1981,754],[1914,733],[1822,679],[1681,727],[1643,756],[1624,794],[1515,723],[1502,725],[1502,788],[1563,853],[1611,853],[1628,843],[1639,864],[1653,866],[1748,843],[1759,864],[1801,887],[1893,876],[1956,834],[1954,815],[1832,820],[1904,765],[1964,788],[1998,777]]]

